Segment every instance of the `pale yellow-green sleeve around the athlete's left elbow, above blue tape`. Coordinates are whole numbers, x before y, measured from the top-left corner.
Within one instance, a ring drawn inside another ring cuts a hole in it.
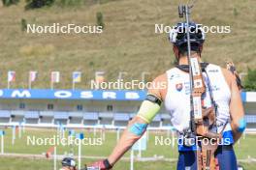
[[[138,112],[138,116],[141,117],[147,124],[150,124],[159,110],[159,104],[149,100],[144,100]]]

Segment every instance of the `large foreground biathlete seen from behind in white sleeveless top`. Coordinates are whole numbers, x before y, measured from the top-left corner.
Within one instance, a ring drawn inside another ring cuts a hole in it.
[[[238,170],[233,145],[240,139],[246,124],[236,76],[231,71],[202,61],[201,54],[205,42],[205,33],[202,27],[196,23],[189,23],[189,27],[197,29],[196,32],[189,34],[191,55],[197,57],[200,61],[207,86],[207,92],[204,95],[204,107],[212,107],[212,99],[217,105],[216,128],[221,133],[224,142],[219,144],[215,151],[216,163],[221,170]],[[147,126],[160,110],[162,103],[165,104],[166,109],[172,116],[171,122],[176,128],[178,138],[182,139],[186,135],[191,118],[190,80],[187,37],[182,30],[185,30],[185,23],[177,23],[169,38],[170,42],[173,43],[173,51],[178,64],[175,68],[156,77],[152,82],[152,85],[166,83],[167,86],[148,89],[148,95],[144,99],[137,116],[129,122],[112,154],[104,160],[94,162],[91,166],[99,167],[101,170],[112,169],[116,161],[143,136]],[[187,146],[184,143],[179,143],[176,169],[197,170],[196,150],[195,145]]]

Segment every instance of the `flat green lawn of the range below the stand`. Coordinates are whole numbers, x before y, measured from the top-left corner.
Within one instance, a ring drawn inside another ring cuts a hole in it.
[[[56,134],[55,129],[27,129],[25,133],[22,133],[22,137],[20,139],[16,139],[15,145],[12,145],[12,131],[11,129],[6,129],[7,135],[5,136],[5,152],[6,153],[16,153],[16,154],[33,154],[33,155],[42,155],[46,153],[50,146],[30,146],[27,145],[27,136],[36,137],[52,137]],[[79,131],[79,130],[77,130]],[[93,137],[92,131],[83,130],[86,137]],[[153,133],[151,132],[149,135],[149,141],[147,144],[147,150],[143,152],[143,157],[152,157],[152,156],[164,156],[165,158],[176,158],[177,151],[176,147],[172,148],[172,146],[160,146],[154,145],[154,138],[155,136],[164,136],[167,137],[165,132],[158,132]],[[100,132],[97,133],[96,138],[100,137]],[[240,144],[237,144],[235,147],[236,155],[238,159],[246,159],[248,156],[256,157],[256,148],[252,147],[255,142],[256,136],[255,135],[246,135],[245,139],[240,140]],[[109,156],[112,152],[113,147],[116,144],[116,133],[115,132],[108,132],[106,135],[106,140],[103,142],[101,146],[82,146],[81,154],[82,156]],[[78,147],[74,148],[75,156],[78,155]],[[58,146],[57,147],[57,154],[64,155],[65,153],[69,153],[71,151],[70,146]],[[137,156],[137,153],[135,153]],[[130,153],[127,153],[125,157],[129,157]],[[43,169],[52,169],[53,161],[52,159],[46,158],[24,158],[24,157],[0,157],[1,166],[0,170],[13,170],[13,169],[27,169],[27,170],[43,170]],[[82,162],[92,162],[93,159],[83,159]],[[253,170],[253,167],[256,163],[241,163],[244,165],[246,170]],[[60,162],[58,161],[58,166],[60,166]],[[121,160],[119,161],[115,169],[116,170],[126,170],[129,167],[128,160]],[[135,168],[140,170],[150,169],[150,170],[157,170],[157,169],[176,169],[176,162],[169,162],[169,161],[145,161],[145,162],[135,162]]]

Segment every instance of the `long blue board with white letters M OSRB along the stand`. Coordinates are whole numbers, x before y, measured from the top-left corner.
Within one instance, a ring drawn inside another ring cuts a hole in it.
[[[143,90],[1,89],[0,99],[144,100],[146,93]],[[256,102],[256,92],[242,92],[241,99]]]

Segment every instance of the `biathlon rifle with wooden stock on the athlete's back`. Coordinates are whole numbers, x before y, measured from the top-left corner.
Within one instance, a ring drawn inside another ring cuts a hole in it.
[[[209,128],[215,126],[216,122],[216,109],[214,107],[203,109],[202,96],[206,93],[206,84],[204,82],[203,73],[199,59],[196,56],[191,56],[191,43],[190,43],[190,10],[192,5],[178,6],[178,15],[186,20],[186,36],[187,36],[187,59],[189,66],[189,80],[190,80],[190,124],[189,128],[185,131],[184,144],[186,145],[187,139],[199,137],[203,141],[205,138],[213,139],[214,144],[208,142],[197,143],[197,167],[198,170],[216,170],[217,163],[215,162],[214,153],[218,147],[217,139],[221,138],[220,133],[217,131],[210,131]]]

